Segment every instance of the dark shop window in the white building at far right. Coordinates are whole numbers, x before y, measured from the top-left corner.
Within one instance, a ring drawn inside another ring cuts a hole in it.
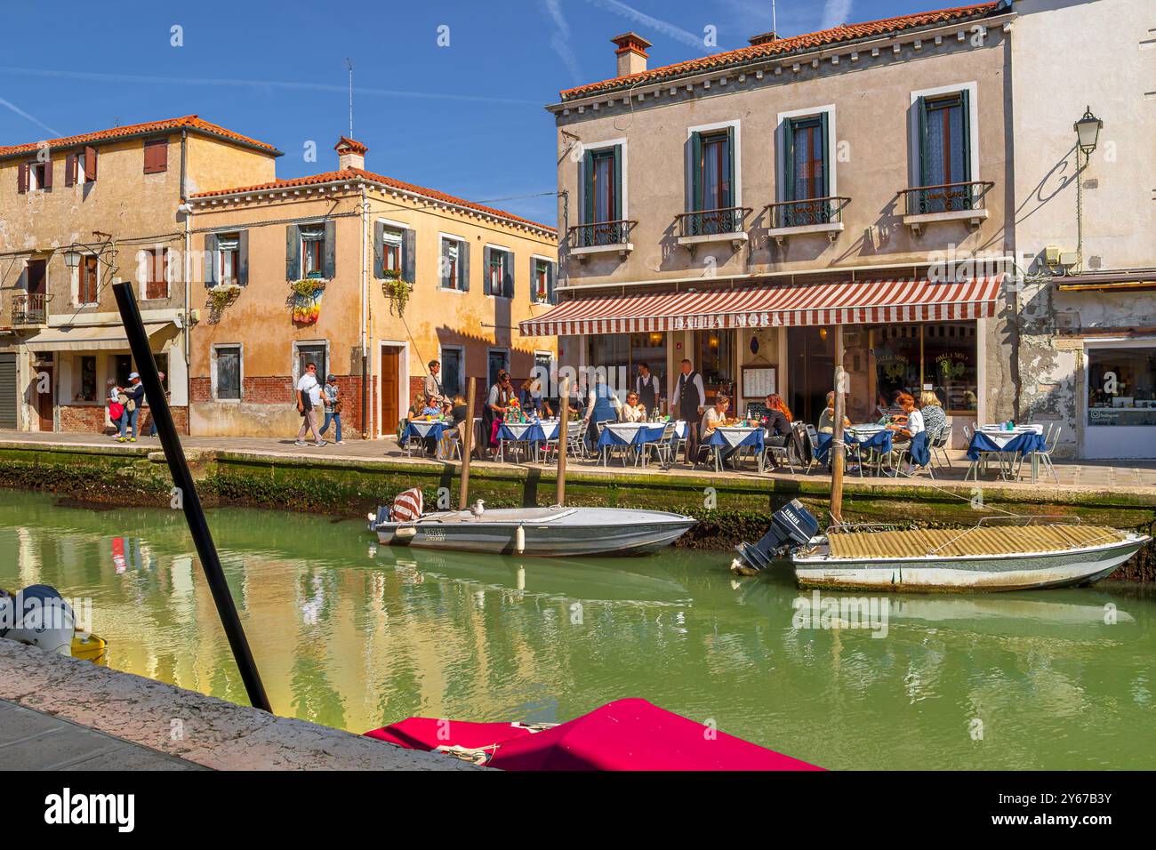
[[[1156,426],[1156,348],[1088,352],[1088,424]]]

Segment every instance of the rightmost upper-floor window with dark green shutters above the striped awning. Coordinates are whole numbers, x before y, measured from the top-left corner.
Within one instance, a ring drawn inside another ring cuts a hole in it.
[[[971,191],[951,184],[971,179],[971,132],[969,130],[969,93],[956,91],[936,97],[920,97],[919,185],[931,191],[919,192],[919,213],[943,213],[970,209]]]

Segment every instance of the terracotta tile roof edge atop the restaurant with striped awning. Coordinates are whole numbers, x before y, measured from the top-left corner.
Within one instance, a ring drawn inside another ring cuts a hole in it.
[[[880,21],[867,21],[865,23],[840,24],[832,29],[818,32],[808,32],[790,38],[778,38],[772,42],[754,44],[749,47],[716,53],[701,59],[690,59],[684,62],[666,65],[660,68],[640,71],[628,76],[616,76],[612,80],[578,86],[572,89],[563,89],[558,94],[562,101],[572,101],[578,97],[599,94],[602,91],[614,91],[615,89],[637,86],[639,83],[653,83],[672,77],[697,74],[704,71],[725,68],[742,62],[765,59],[781,53],[791,53],[800,50],[813,50],[825,47],[843,42],[853,42],[860,38],[885,36],[891,32],[928,27],[951,21],[965,21],[976,17],[991,15],[1007,6],[1006,1],[985,2],[976,6],[958,6],[950,9],[939,9],[936,12],[920,12],[913,15],[899,15],[887,17]]]

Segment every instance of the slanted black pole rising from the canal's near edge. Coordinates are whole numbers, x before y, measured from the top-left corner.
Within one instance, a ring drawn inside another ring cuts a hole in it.
[[[161,386],[161,376],[156,371],[156,361],[153,360],[153,350],[148,345],[148,334],[144,333],[144,323],[141,321],[141,312],[136,306],[136,295],[133,293],[131,281],[112,284],[112,293],[117,296],[117,308],[120,310],[120,319],[125,323],[125,333],[128,335],[128,347],[132,349],[133,360],[136,362],[136,371],[140,372],[141,383],[144,384],[144,396],[148,398],[149,409],[153,413],[153,421],[156,422],[156,433],[161,437],[161,445],[164,448],[164,459],[169,461],[169,472],[172,473],[172,482],[179,493],[181,507],[185,511],[185,520],[188,523],[188,531],[193,535],[197,545],[197,554],[201,560],[201,569],[208,579],[209,590],[213,591],[213,601],[216,604],[217,615],[221,624],[229,637],[229,646],[232,648],[232,657],[240,670],[240,678],[245,682],[245,690],[249,693],[249,702],[254,708],[264,709],[269,714],[269,697],[265,694],[265,686],[261,685],[261,677],[257,672],[257,664],[253,661],[253,653],[249,650],[249,641],[245,640],[245,630],[240,626],[237,616],[237,606],[232,603],[232,594],[229,585],[224,581],[224,570],[221,569],[221,559],[217,557],[216,546],[213,545],[213,535],[209,533],[208,523],[205,522],[205,510],[201,508],[201,500],[197,496],[197,487],[193,485],[193,476],[188,472],[188,464],[185,461],[185,452],[180,448],[180,438],[177,429],[172,424],[172,413],[169,411],[169,400],[164,397],[164,387]],[[188,330],[185,330],[188,333]]]

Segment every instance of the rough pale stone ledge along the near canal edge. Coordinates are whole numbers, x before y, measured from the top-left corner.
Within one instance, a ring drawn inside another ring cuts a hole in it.
[[[0,699],[214,770],[480,770],[0,640]]]

